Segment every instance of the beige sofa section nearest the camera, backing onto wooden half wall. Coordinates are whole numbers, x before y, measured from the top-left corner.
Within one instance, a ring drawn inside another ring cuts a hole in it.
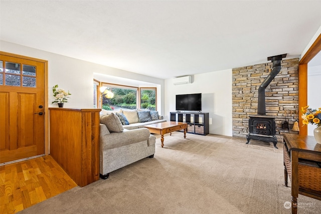
[[[100,116],[100,177],[155,153],[155,136],[147,128],[124,129],[114,114]]]

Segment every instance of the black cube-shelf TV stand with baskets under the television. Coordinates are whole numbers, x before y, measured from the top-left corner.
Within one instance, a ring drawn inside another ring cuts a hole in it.
[[[208,135],[209,113],[170,112],[170,121],[187,123],[187,133]]]

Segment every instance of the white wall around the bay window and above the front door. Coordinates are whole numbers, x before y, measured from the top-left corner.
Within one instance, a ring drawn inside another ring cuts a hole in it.
[[[56,107],[51,104],[52,87],[56,84],[59,88],[69,90],[69,102],[64,105],[66,108],[93,108],[93,73],[107,74],[127,79],[139,80],[157,84],[157,99],[161,106],[157,110],[164,114],[164,80],[148,77],[124,70],[102,66],[83,60],[78,60],[38,49],[29,48],[5,41],[0,41],[1,51],[38,58],[48,61],[48,97],[49,107]]]

